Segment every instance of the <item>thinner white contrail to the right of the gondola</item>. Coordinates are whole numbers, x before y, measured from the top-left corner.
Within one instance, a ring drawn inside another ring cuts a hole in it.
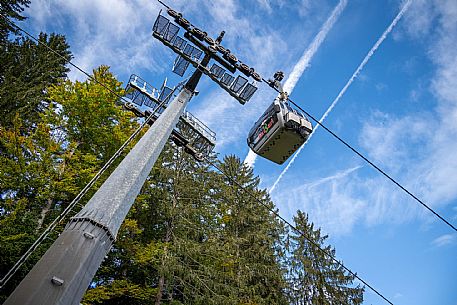
[[[379,46],[381,45],[381,43],[386,39],[387,35],[389,35],[390,32],[392,32],[393,28],[397,25],[398,21],[401,19],[401,17],[403,17],[403,15],[405,14],[406,10],[408,9],[408,7],[410,6],[412,0],[407,0],[406,3],[403,5],[403,7],[401,8],[400,12],[397,14],[397,16],[395,17],[395,19],[392,21],[392,23],[389,25],[389,27],[384,31],[384,33],[382,33],[381,37],[379,37],[378,41],[376,41],[376,43],[374,44],[374,46],[370,49],[370,51],[368,52],[368,54],[365,56],[365,58],[363,59],[363,61],[360,63],[360,65],[357,67],[357,69],[355,70],[354,74],[352,74],[351,78],[348,80],[348,82],[346,83],[346,85],[343,87],[343,89],[341,89],[340,93],[338,94],[338,96],[335,98],[335,100],[332,102],[332,104],[330,105],[330,107],[327,109],[327,111],[324,113],[324,115],[320,118],[319,120],[319,123],[322,123],[326,118],[327,116],[329,115],[329,113],[333,110],[333,108],[335,107],[335,105],[338,103],[338,101],[341,99],[341,97],[344,95],[344,93],[347,91],[347,89],[349,88],[349,86],[352,84],[352,82],[354,82],[354,80],[357,78],[357,76],[360,74],[360,72],[362,71],[362,69],[365,67],[365,65],[367,64],[367,62],[370,60],[370,58],[373,56],[374,52],[376,52],[376,50],[379,48]],[[309,142],[309,140],[312,138],[312,136],[314,135],[314,133],[316,132],[316,130],[319,128],[319,124],[317,124],[314,129],[313,129],[313,132],[309,135],[309,138],[306,140],[305,144],[303,144],[297,151],[297,153],[293,156],[293,158],[290,160],[290,162],[287,164],[286,168],[284,168],[284,170],[281,172],[281,174],[278,176],[278,178],[276,179],[275,183],[273,183],[273,185],[271,186],[270,190],[268,191],[270,194],[274,191],[274,189],[276,188],[276,185],[278,185],[279,181],[282,179],[282,177],[284,176],[285,173],[287,173],[287,171],[289,170],[290,166],[294,163],[295,159],[297,158],[297,156],[300,154],[300,152],[302,151],[303,147],[305,147],[305,145]]]

